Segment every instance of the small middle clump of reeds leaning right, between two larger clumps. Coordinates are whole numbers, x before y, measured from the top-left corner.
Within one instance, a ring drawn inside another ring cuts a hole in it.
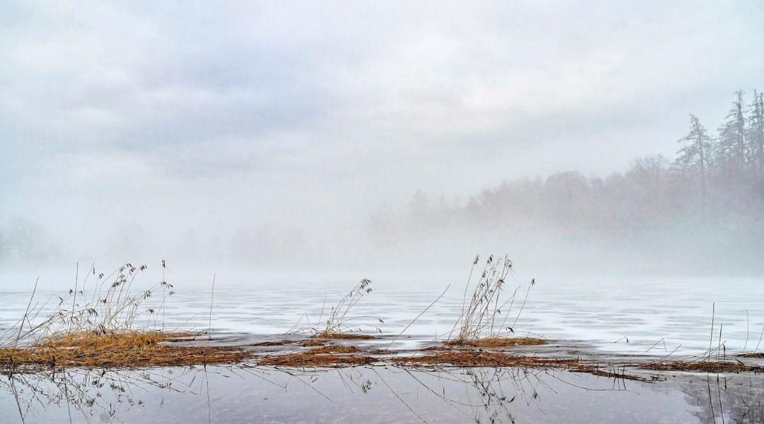
[[[374,324],[367,323],[367,320],[383,321],[376,316],[353,316],[351,310],[358,304],[366,294],[371,293],[371,280],[364,278],[355,284],[348,294],[343,296],[338,304],[329,310],[326,319],[323,320],[324,307],[321,308],[321,314],[315,325],[299,327],[302,317],[286,334],[296,334],[300,332],[309,332],[312,336],[321,339],[375,339],[368,334],[358,334],[361,327],[370,327],[377,332],[382,330]],[[306,316],[306,315],[303,315]]]

